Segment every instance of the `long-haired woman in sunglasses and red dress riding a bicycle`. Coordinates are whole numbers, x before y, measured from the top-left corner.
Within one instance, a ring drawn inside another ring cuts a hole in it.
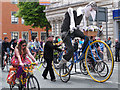
[[[12,65],[17,68],[16,84],[19,84],[19,77],[23,72],[22,67],[24,67],[24,64],[31,64],[31,61],[27,57],[27,55],[32,59],[33,62],[36,61],[26,46],[27,46],[26,41],[19,39],[18,45],[15,48],[15,54],[11,60]],[[37,62],[35,63],[37,64]],[[26,74],[23,75],[23,78],[25,77]]]

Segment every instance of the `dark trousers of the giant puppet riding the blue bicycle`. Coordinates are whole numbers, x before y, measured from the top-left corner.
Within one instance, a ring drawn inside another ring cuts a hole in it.
[[[67,61],[69,61],[71,59],[71,57],[73,56],[73,53],[74,53],[74,47],[72,46],[72,43],[71,43],[71,37],[72,38],[80,37],[80,38],[84,39],[82,51],[84,51],[84,49],[89,41],[89,38],[87,36],[85,36],[83,34],[83,32],[80,31],[79,29],[74,30],[74,32],[72,34],[68,33],[68,35],[67,35],[67,32],[62,32],[62,40],[63,40],[63,42],[68,50],[68,53],[66,53],[63,56],[63,58]]]

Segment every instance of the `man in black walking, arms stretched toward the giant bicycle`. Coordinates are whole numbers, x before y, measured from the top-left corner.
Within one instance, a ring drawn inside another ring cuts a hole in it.
[[[53,60],[53,49],[56,49],[58,51],[62,51],[58,48],[59,46],[53,45],[53,36],[48,36],[47,42],[44,46],[44,59],[47,62],[47,67],[45,68],[42,76],[44,79],[47,79],[48,71],[50,73],[51,81],[55,82],[55,75],[52,69],[52,60]]]

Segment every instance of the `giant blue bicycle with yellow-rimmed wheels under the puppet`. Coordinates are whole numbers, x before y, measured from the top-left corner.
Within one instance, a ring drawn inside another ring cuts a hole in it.
[[[97,44],[104,45],[104,51],[102,54],[103,58],[100,56],[100,53],[97,49],[98,47],[96,47]],[[85,52],[85,50],[86,50],[86,52]],[[113,54],[112,54],[112,51],[110,50],[109,46],[105,42],[100,41],[100,40],[96,40],[96,41],[92,41],[92,42],[89,41],[87,46],[85,47],[85,50],[78,57],[77,60],[74,61],[74,57],[72,57],[69,60],[69,62],[66,63],[66,66],[69,68],[69,71],[67,71],[66,74],[60,75],[54,65],[54,62],[53,62],[53,69],[56,72],[56,74],[59,75],[60,77],[67,76],[71,72],[74,63],[83,62],[83,60],[81,59],[81,56],[85,52],[85,61],[84,62],[85,62],[85,67],[86,67],[86,70],[87,70],[87,73],[89,74],[89,76],[96,82],[107,81],[111,77],[113,68],[114,68]],[[107,50],[108,50],[108,52],[107,52]],[[110,57],[107,57],[106,52],[110,54]],[[63,55],[63,53],[60,56],[62,57],[62,55]]]

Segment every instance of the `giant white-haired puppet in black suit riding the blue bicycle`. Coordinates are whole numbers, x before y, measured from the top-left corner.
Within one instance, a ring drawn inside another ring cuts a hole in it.
[[[65,19],[61,27],[62,40],[67,47],[68,53],[66,53],[63,56],[63,59],[59,62],[59,65],[57,65],[58,68],[61,67],[67,61],[69,61],[70,58],[73,56],[74,48],[70,40],[71,37],[72,39],[75,37],[80,37],[84,39],[84,44],[82,48],[82,51],[84,51],[89,41],[89,38],[85,36],[82,31],[79,30],[80,23],[83,19],[84,27],[86,27],[87,26],[86,19],[88,19],[90,15],[92,16],[94,21],[96,16],[96,10],[97,4],[94,1],[90,2],[84,8],[79,7],[77,11],[75,10],[73,11],[73,8],[68,8],[68,11],[65,13]],[[84,54],[81,58],[83,57]]]

